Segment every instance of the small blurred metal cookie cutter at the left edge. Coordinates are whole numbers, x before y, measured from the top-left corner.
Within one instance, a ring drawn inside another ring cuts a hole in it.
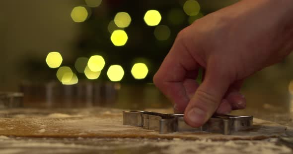
[[[23,93],[0,92],[0,109],[23,107]]]

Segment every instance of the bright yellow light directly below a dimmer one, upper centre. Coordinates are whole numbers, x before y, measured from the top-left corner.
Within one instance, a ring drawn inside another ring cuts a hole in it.
[[[128,36],[123,30],[115,30],[111,35],[111,41],[115,46],[123,46],[127,42]]]

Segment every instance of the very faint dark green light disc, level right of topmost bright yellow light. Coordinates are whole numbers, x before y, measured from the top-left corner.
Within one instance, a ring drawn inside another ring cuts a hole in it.
[[[173,25],[182,24],[185,20],[185,13],[182,8],[173,8],[168,12],[168,20]]]

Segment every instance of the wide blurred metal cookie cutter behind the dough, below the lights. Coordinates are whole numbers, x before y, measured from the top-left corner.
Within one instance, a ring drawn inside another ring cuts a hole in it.
[[[83,108],[111,106],[115,104],[119,83],[79,81],[63,85],[59,81],[23,82],[24,107],[37,108]]]

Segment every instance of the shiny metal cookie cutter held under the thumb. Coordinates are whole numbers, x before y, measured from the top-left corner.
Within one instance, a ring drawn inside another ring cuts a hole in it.
[[[191,127],[183,114],[163,114],[147,111],[124,111],[123,125],[139,126],[160,134],[171,132],[210,132],[229,135],[252,126],[253,116],[213,116],[201,127]]]

